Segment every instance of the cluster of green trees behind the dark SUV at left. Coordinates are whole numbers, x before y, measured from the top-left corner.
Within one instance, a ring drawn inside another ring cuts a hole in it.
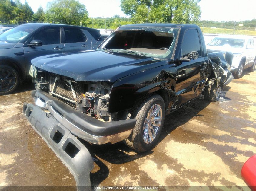
[[[84,4],[77,0],[55,0],[48,2],[46,11],[40,6],[34,13],[32,8],[25,1],[1,0],[0,1],[0,21],[8,24],[23,24],[27,22],[48,22],[85,25],[88,20],[88,11]]]

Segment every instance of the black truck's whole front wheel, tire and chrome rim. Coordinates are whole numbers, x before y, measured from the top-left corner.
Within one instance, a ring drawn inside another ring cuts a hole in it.
[[[124,141],[136,151],[148,151],[153,148],[160,136],[165,120],[165,103],[158,94],[146,96],[131,114],[137,119],[131,135]]]

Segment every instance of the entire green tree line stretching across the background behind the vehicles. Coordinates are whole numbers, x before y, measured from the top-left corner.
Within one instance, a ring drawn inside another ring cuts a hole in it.
[[[27,22],[45,22],[82,25],[92,28],[116,29],[125,24],[134,23],[182,23],[197,24],[200,27],[254,30],[256,19],[235,21],[200,21],[200,0],[121,0],[121,10],[129,18],[114,15],[109,18],[90,18],[84,4],[78,0],[54,0],[47,8],[40,6],[34,13],[25,1],[0,0],[0,22],[2,24],[24,24]],[[243,24],[240,27],[239,24]]]

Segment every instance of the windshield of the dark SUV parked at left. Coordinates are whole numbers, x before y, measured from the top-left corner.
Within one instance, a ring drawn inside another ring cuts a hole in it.
[[[12,28],[5,33],[0,35],[0,41],[8,43],[18,43],[23,38],[25,38],[29,33],[33,32],[36,28],[35,26],[20,25],[18,27]]]

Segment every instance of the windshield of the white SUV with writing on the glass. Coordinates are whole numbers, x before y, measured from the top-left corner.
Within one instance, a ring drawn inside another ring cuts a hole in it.
[[[241,48],[244,46],[244,39],[233,38],[214,38],[208,45],[210,46],[231,46],[234,48]]]

